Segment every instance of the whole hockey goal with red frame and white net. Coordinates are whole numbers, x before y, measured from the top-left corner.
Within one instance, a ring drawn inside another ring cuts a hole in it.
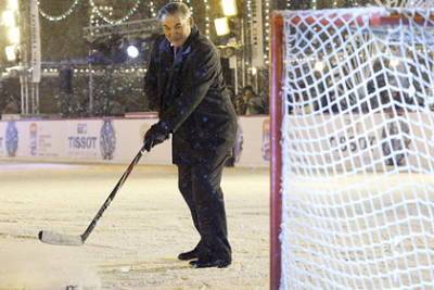
[[[433,14],[273,13],[271,289],[434,289]]]

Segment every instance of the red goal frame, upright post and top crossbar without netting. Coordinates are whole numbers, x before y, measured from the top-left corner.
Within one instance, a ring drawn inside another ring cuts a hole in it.
[[[271,17],[271,38],[270,38],[270,140],[271,140],[271,164],[270,164],[270,289],[277,290],[281,286],[282,273],[282,242],[280,239],[282,224],[282,119],[289,114],[289,108],[285,105],[285,94],[283,87],[284,74],[288,61],[285,60],[285,39],[284,25],[285,11],[275,11]],[[293,13],[298,13],[293,11]],[[301,11],[301,14],[309,13]],[[292,25],[297,25],[303,22],[305,25],[345,25],[346,17],[352,17],[352,10],[347,10],[347,16],[344,13],[334,14],[331,10],[316,11],[311,16],[293,16],[291,17]],[[408,25],[409,23],[419,24],[422,26],[433,26],[434,13],[429,17],[422,15],[421,11],[398,11],[391,10],[387,14],[384,11],[371,13],[368,17],[355,17],[353,23],[363,24],[365,20],[369,20],[369,26],[396,26]],[[346,23],[347,25],[347,23]],[[407,109],[406,109],[407,110]]]

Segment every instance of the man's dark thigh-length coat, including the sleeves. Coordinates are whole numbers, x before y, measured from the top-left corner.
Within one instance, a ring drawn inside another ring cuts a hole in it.
[[[178,49],[159,36],[145,77],[150,102],[173,133],[173,162],[194,164],[229,154],[237,115],[215,46],[195,26]]]

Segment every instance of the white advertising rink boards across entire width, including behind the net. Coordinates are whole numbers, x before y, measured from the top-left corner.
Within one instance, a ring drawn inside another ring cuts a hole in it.
[[[293,125],[288,131],[289,147],[296,153],[291,163],[298,167],[352,166],[369,171],[382,168],[395,159],[416,168],[431,166],[432,114],[409,113],[403,118],[387,114],[366,116],[326,115],[303,121],[290,116]],[[155,122],[156,118],[0,122],[0,157],[129,163],[141,149],[144,133]],[[303,122],[298,126],[303,130],[296,129],[297,122]],[[239,117],[232,153],[234,166],[269,166],[269,118]],[[171,164],[170,140],[146,152],[141,163]]]

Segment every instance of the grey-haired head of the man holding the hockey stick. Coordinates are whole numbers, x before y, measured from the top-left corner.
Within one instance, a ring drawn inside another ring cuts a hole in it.
[[[181,47],[191,33],[193,18],[190,9],[182,2],[169,2],[157,15],[167,40],[176,48]]]

